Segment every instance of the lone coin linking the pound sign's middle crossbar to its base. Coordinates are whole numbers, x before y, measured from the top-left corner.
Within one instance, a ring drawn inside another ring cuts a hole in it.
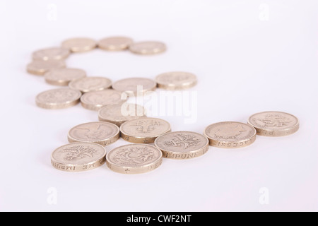
[[[108,121],[117,126],[125,121],[146,117],[146,109],[140,105],[134,105],[124,102],[121,105],[108,105],[102,107],[98,112],[100,121]]]

